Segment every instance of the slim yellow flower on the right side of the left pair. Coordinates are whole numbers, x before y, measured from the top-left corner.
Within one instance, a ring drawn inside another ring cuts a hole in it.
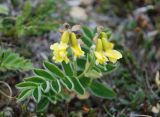
[[[81,46],[78,44],[78,40],[76,38],[75,33],[71,33],[71,43],[72,43],[72,51],[74,53],[74,57],[84,56],[84,52],[81,49]]]

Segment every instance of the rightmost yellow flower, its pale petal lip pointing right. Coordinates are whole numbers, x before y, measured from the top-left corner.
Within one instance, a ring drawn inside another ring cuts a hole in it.
[[[107,41],[105,38],[102,38],[102,44],[106,57],[108,57],[112,63],[115,63],[118,59],[122,58],[122,54],[119,51],[113,49],[113,43]]]

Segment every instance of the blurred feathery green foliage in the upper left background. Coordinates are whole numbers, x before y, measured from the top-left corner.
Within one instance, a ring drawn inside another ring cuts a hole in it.
[[[22,12],[13,16],[7,6],[0,6],[0,32],[5,36],[22,37],[42,35],[58,27],[55,0],[43,0],[34,7],[30,0],[23,5]]]

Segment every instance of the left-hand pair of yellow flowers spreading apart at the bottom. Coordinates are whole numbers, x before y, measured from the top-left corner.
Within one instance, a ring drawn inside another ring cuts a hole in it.
[[[68,48],[71,45],[72,52],[74,54],[74,59],[77,57],[84,56],[84,52],[82,51],[80,44],[76,38],[76,34],[69,30],[63,32],[61,36],[60,43],[54,43],[50,46],[50,49],[53,50],[53,60],[56,63],[65,61],[69,62],[68,58]]]

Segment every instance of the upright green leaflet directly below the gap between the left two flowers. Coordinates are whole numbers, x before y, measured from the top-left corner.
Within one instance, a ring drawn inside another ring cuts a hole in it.
[[[66,64],[65,62],[62,62],[62,66],[68,76],[73,76],[73,69],[70,63]]]

